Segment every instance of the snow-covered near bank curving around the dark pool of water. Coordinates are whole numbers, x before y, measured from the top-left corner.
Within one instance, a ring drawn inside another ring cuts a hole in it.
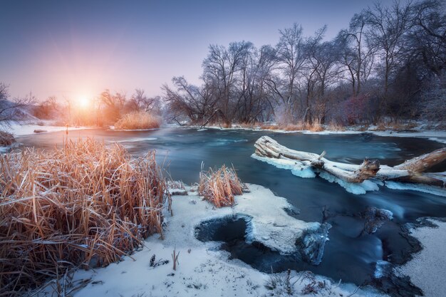
[[[159,235],[150,236],[142,251],[131,258],[125,257],[124,261],[103,269],[77,271],[75,280],[91,278],[91,281],[75,296],[289,296],[288,289],[297,295],[312,288],[318,291],[317,296],[350,296],[356,291],[353,284],[333,283],[321,276],[296,271],[291,271],[291,285],[287,288],[286,272],[271,278],[242,261],[229,260],[227,252],[217,249],[216,242],[198,241],[194,230],[200,222],[238,214],[252,218],[247,237],[287,251],[289,246],[294,246],[299,229],[318,225],[289,217],[283,209],[289,207],[286,199],[274,196],[269,189],[254,184],[248,186],[251,192],[237,196],[234,207],[222,209],[214,209],[195,192],[174,196],[174,216],[166,217],[165,239],[161,240]],[[174,249],[179,253],[176,271],[172,269]],[[152,267],[153,255],[155,262],[170,262]],[[275,285],[266,288],[267,283]],[[364,290],[359,290],[355,296],[383,296],[371,288]]]

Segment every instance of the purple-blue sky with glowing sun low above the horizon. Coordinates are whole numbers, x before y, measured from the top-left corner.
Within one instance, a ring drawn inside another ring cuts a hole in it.
[[[173,76],[199,83],[209,44],[275,45],[279,29],[333,38],[368,0],[1,0],[0,82],[11,97],[85,98],[106,88],[162,95]],[[384,4],[390,0],[383,0]]]

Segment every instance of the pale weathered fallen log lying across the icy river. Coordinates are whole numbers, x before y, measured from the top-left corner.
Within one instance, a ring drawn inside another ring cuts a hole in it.
[[[446,186],[445,174],[425,172],[432,166],[446,160],[446,147],[415,157],[394,167],[380,165],[378,160],[368,160],[367,158],[361,165],[333,162],[324,158],[325,151],[321,155],[317,155],[312,152],[291,150],[268,136],[260,137],[254,147],[256,147],[255,153],[259,157],[293,160],[316,171],[326,171],[346,182],[363,182],[366,179],[373,178],[382,181],[391,180],[438,187]]]

